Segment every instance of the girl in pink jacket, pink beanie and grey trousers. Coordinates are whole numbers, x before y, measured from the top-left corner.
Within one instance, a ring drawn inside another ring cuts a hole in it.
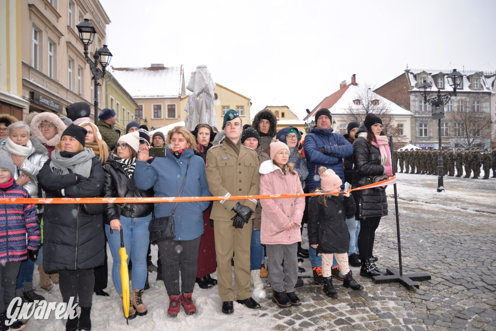
[[[262,162],[259,169],[261,195],[303,194],[298,174],[288,164],[289,155],[289,147],[284,142],[270,143],[270,160]],[[260,242],[267,252],[269,280],[274,289],[272,302],[280,308],[300,306],[295,285],[305,197],[260,199],[260,204]]]

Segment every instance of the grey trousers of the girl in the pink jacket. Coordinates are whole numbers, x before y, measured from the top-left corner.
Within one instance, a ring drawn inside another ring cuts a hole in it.
[[[277,292],[293,292],[298,280],[298,243],[265,245],[265,251],[270,286]]]

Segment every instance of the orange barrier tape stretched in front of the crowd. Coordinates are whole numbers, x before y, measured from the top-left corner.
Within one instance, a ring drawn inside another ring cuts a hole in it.
[[[350,191],[371,189],[378,186],[390,185],[396,183],[396,176],[389,179],[365,185]],[[230,197],[156,197],[156,198],[0,198],[0,204],[6,203],[40,203],[40,204],[58,204],[58,203],[156,203],[156,202],[194,202],[194,201],[219,201],[219,200],[246,200],[246,199],[280,199],[294,197],[314,197],[327,194],[343,193],[342,191],[326,193],[302,193],[302,194],[273,194],[258,196],[230,196]]]

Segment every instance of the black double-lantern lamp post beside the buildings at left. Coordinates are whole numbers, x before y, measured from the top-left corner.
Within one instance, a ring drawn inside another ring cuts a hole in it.
[[[94,108],[95,108],[95,124],[98,122],[98,86],[100,83],[98,82],[105,76],[105,68],[110,64],[110,60],[112,59],[112,53],[110,53],[107,45],[103,45],[103,47],[95,52],[93,55],[93,60],[88,57],[88,46],[93,43],[93,38],[95,38],[96,30],[91,25],[90,20],[85,18],[83,22],[76,25],[77,31],[79,32],[79,39],[84,45],[84,58],[86,62],[90,66],[91,73],[93,74],[94,80]],[[98,63],[102,66],[102,69],[98,67]]]

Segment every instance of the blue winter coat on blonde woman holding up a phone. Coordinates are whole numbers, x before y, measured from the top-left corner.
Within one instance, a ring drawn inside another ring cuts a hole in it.
[[[205,162],[194,155],[192,149],[185,149],[181,157],[176,158],[169,148],[166,157],[156,157],[148,165],[145,161],[136,161],[134,180],[136,187],[148,190],[153,187],[155,197],[177,197],[186,175],[188,158],[189,168],[182,197],[211,197],[205,178]],[[155,218],[169,216],[175,202],[155,203]],[[174,211],[174,240],[193,240],[203,234],[203,210],[210,201],[179,202]]]

